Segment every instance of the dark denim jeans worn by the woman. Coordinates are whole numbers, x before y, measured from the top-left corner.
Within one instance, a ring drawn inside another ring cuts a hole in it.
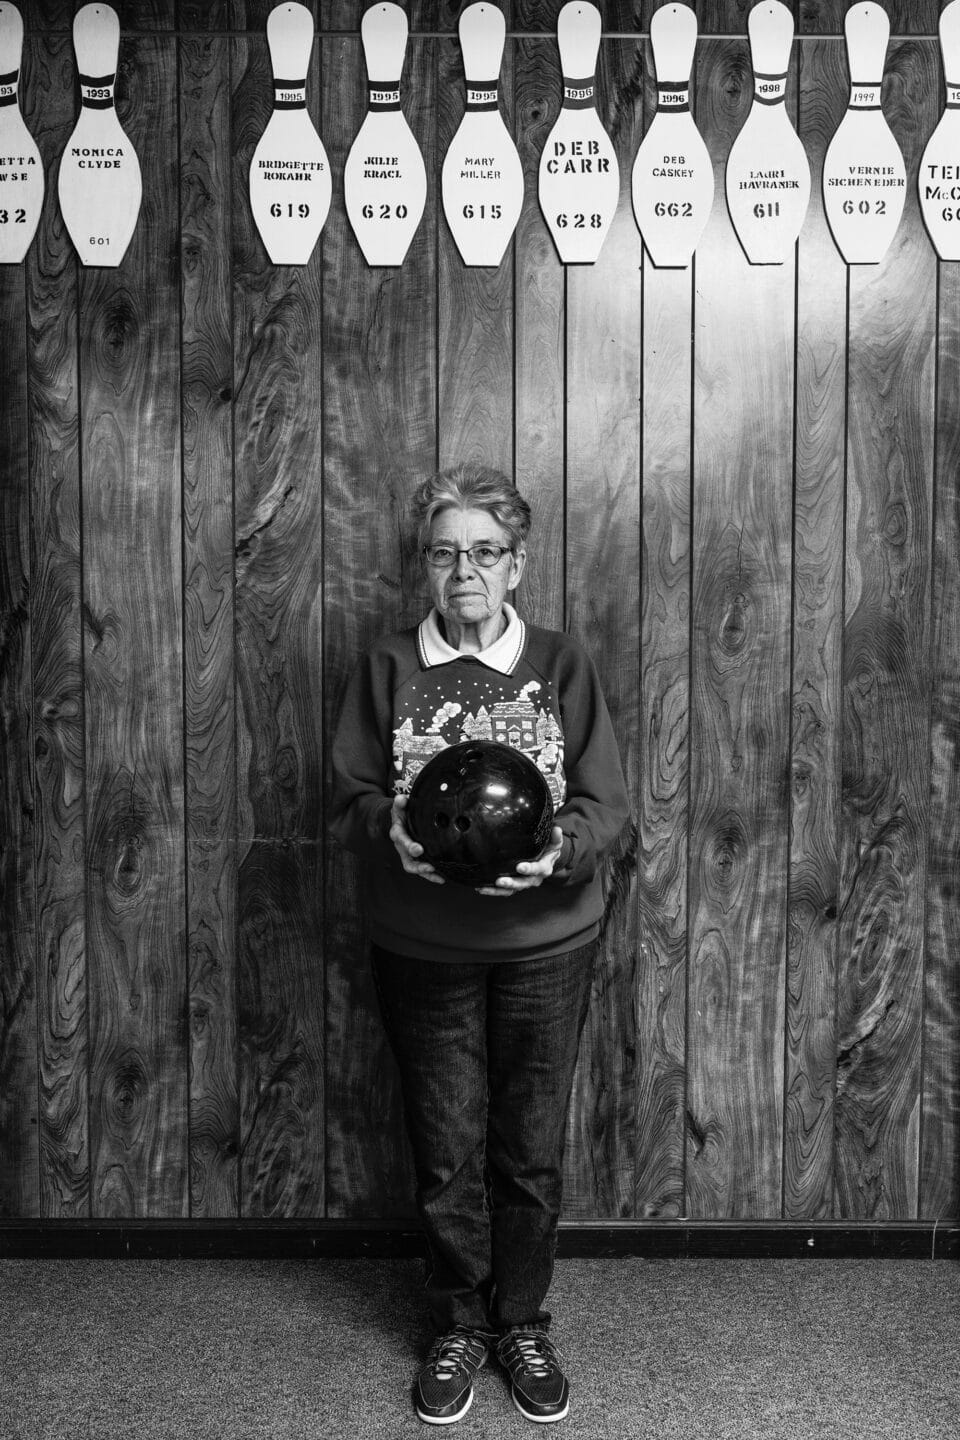
[[[596,950],[445,965],[373,948],[439,1333],[550,1323],[543,1302]]]

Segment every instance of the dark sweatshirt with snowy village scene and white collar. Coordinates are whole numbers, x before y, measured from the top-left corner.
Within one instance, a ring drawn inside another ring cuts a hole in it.
[[[367,651],[344,696],[331,831],[367,861],[371,939],[400,955],[534,959],[599,930],[599,863],[629,814],[610,717],[583,647],[505,612],[507,634],[479,657],[450,651],[432,612]],[[553,876],[510,899],[409,876],[389,838],[391,796],[438,750],[481,737],[538,765],[564,837]]]

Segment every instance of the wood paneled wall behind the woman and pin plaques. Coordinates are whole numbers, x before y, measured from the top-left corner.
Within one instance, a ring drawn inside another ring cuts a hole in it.
[[[746,262],[723,199],[748,4],[698,3],[718,184],[685,272],[643,264],[629,200],[649,0],[603,6],[622,204],[567,271],[535,196],[558,0],[505,4],[527,203],[498,269],[461,264],[439,206],[456,4],[410,7],[430,187],[396,271],[343,204],[358,0],[314,7],[335,183],[299,269],[268,264],[246,199],[268,0],[119,6],[144,207],[117,271],[78,266],[56,206],[73,6],[22,9],[47,196],[0,269],[0,1214],[410,1212],[327,740],[360,648],[422,611],[412,488],[471,458],[534,504],[521,605],[596,657],[635,799],[567,1214],[956,1215],[960,266],[913,181],[881,265],[832,245],[842,0],[796,6],[815,184],[780,268]],[[915,180],[938,4],[888,10]]]

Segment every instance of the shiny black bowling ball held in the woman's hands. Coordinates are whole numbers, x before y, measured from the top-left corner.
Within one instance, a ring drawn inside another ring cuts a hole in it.
[[[488,886],[550,840],[553,799],[521,750],[466,740],[439,750],[413,780],[407,829],[446,880]]]

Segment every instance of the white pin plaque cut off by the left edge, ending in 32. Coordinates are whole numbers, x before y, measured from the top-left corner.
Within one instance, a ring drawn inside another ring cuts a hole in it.
[[[17,104],[23,20],[0,0],[0,265],[27,252],[43,209],[43,164]]]

